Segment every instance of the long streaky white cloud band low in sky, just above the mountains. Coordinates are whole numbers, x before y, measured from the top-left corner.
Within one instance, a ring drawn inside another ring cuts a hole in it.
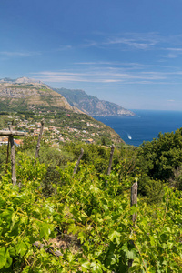
[[[45,82],[89,82],[89,83],[149,83],[167,80],[165,74],[142,71],[130,71],[118,67],[92,66],[79,71],[41,71],[32,75]]]

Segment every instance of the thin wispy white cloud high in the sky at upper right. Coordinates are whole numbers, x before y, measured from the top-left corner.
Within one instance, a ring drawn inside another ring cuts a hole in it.
[[[182,35],[160,35],[158,33],[95,34],[96,39],[86,41],[84,46],[120,51],[154,51],[154,58],[175,59],[182,55]],[[83,46],[83,45],[82,45]],[[161,52],[168,51],[167,54]],[[156,56],[155,56],[156,54]]]

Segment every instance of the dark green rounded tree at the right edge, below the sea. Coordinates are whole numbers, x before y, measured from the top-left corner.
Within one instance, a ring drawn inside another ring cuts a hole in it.
[[[159,134],[138,150],[137,166],[153,179],[167,181],[182,164],[182,128],[175,133]]]

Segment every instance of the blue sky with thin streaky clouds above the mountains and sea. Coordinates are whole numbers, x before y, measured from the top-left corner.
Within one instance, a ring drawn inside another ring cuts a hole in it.
[[[182,110],[181,0],[1,0],[0,78]]]

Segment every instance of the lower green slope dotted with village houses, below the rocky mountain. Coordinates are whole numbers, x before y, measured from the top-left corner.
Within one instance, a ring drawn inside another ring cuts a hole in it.
[[[0,129],[7,126],[8,122],[14,120],[16,130],[25,130],[27,133],[33,130],[37,135],[37,123],[45,119],[45,136],[52,137],[53,142],[83,141],[92,139],[97,144],[110,145],[124,143],[119,135],[103,123],[96,121],[91,116],[77,114],[69,110],[59,110],[56,107],[38,107],[34,112],[18,110],[8,113],[0,112]]]

